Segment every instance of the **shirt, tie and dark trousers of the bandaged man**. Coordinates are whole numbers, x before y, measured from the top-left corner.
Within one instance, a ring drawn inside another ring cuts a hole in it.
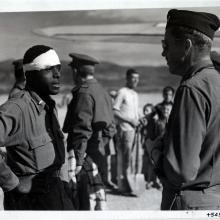
[[[0,119],[0,145],[20,181],[19,192],[5,193],[5,209],[73,209],[60,179],[65,149],[55,102],[23,90],[0,107]]]

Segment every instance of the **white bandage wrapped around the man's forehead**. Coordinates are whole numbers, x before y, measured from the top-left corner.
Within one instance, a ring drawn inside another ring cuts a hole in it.
[[[56,65],[60,65],[59,57],[53,49],[50,49],[36,57],[31,63],[24,64],[23,70],[24,72],[33,70],[39,71]]]

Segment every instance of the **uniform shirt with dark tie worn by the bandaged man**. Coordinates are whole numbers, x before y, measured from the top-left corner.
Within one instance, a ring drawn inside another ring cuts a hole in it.
[[[55,102],[47,104],[31,91],[17,93],[0,107],[0,146],[17,176],[60,169],[64,163],[63,134]]]

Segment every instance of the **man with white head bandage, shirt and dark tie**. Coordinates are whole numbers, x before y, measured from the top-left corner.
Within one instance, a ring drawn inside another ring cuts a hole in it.
[[[17,186],[4,194],[7,210],[71,210],[61,166],[63,134],[50,95],[60,89],[60,60],[44,45],[24,54],[26,87],[0,107],[0,145],[7,146],[7,164]]]

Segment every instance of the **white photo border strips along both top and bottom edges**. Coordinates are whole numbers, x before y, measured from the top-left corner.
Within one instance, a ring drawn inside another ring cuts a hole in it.
[[[92,4],[91,4],[92,2]],[[149,7],[150,6],[150,7]],[[220,0],[0,0],[0,12],[71,11],[102,9],[182,8],[220,6]],[[1,220],[142,220],[142,219],[207,219],[208,213],[220,217],[220,211],[2,211]],[[212,216],[210,216],[212,217]],[[213,216],[215,217],[215,216]]]

